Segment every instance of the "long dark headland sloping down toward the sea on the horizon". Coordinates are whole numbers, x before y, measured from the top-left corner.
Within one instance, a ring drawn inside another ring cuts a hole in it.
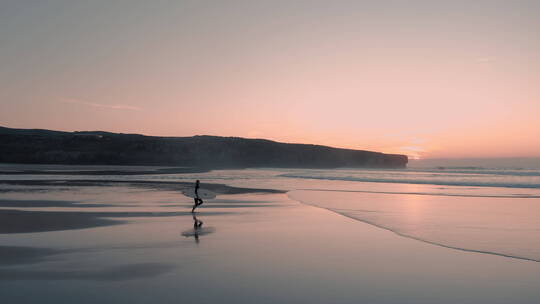
[[[265,139],[0,127],[0,163],[196,168],[404,168],[405,155]]]

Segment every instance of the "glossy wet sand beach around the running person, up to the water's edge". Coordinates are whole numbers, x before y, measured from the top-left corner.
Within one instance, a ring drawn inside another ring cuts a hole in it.
[[[6,303],[540,300],[540,263],[403,238],[285,193],[222,194],[194,218],[177,189],[9,187],[0,201],[4,219],[16,215],[0,225]]]

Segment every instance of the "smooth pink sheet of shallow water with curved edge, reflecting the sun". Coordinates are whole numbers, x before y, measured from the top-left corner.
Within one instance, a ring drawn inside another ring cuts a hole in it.
[[[302,190],[289,195],[401,236],[540,262],[538,199]]]

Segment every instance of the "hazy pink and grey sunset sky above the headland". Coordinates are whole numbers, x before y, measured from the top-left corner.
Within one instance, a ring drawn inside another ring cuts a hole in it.
[[[540,1],[0,0],[0,125],[540,156]]]

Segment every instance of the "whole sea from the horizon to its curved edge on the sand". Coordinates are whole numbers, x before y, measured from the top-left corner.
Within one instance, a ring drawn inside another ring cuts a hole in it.
[[[99,166],[99,170],[105,169]],[[62,170],[70,170],[70,166],[62,166]],[[288,191],[293,200],[403,237],[457,250],[540,261],[538,168],[268,168],[155,175],[0,175],[0,180],[13,179],[200,179],[202,187],[204,183],[223,183],[280,189]]]

